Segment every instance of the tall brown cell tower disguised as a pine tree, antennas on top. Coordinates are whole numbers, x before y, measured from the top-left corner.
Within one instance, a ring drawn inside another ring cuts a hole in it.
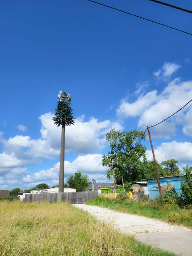
[[[60,91],[57,95],[59,101],[55,110],[55,116],[52,118],[57,126],[61,126],[61,154],[60,154],[60,169],[59,169],[59,192],[64,191],[64,159],[65,159],[65,126],[74,124],[72,115],[71,95]]]

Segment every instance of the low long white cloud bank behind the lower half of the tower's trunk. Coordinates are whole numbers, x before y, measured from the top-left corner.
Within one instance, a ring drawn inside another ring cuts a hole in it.
[[[79,155],[74,161],[65,161],[64,166],[65,180],[77,171],[82,172],[83,175],[89,175],[90,179],[97,179],[108,170],[107,167],[102,166],[101,154]],[[47,183],[49,186],[59,184],[59,162],[50,169],[43,169],[33,174],[29,174],[25,167],[7,169],[0,178],[1,189],[6,187],[25,189],[35,187],[39,183]]]

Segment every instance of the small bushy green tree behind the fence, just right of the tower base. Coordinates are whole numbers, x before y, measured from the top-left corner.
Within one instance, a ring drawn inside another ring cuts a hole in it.
[[[75,172],[67,179],[67,183],[70,188],[76,188],[77,192],[84,191],[89,186],[90,180],[88,176],[83,176],[81,172]]]

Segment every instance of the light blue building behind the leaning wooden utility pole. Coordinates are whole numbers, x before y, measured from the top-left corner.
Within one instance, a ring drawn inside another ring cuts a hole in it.
[[[168,176],[168,177],[160,177],[160,185],[165,188],[167,186],[174,187],[175,190],[180,193],[181,188],[180,184],[182,181],[182,176]],[[148,185],[149,199],[155,199],[159,197],[159,188],[157,179],[146,179]]]

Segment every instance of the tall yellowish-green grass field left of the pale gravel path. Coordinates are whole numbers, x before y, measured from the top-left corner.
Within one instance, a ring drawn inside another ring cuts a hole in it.
[[[68,203],[0,202],[0,256],[169,256]]]

